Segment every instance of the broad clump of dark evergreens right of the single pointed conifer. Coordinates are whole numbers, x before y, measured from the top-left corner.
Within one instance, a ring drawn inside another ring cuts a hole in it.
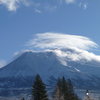
[[[77,95],[74,93],[71,80],[66,80],[64,77],[61,79],[58,79],[54,99],[56,100],[79,100]]]

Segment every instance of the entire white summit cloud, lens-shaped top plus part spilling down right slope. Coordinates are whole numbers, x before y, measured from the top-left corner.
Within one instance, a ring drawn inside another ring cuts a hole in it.
[[[27,46],[39,50],[53,50],[60,61],[66,65],[66,59],[72,61],[98,61],[100,56],[89,52],[98,45],[84,36],[68,35],[62,33],[41,33],[28,41]]]

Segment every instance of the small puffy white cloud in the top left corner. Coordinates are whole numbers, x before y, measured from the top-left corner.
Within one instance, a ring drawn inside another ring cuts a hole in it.
[[[0,0],[0,5],[4,5],[9,11],[16,11],[20,4],[29,5],[29,0]]]

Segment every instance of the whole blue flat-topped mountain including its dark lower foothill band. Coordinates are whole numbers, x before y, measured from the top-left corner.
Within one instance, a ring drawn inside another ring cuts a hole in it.
[[[0,69],[0,87],[29,87],[34,76],[49,78],[65,76],[77,88],[95,88],[100,84],[100,63],[86,59],[72,60],[70,50],[26,51]],[[23,85],[24,84],[24,85]]]

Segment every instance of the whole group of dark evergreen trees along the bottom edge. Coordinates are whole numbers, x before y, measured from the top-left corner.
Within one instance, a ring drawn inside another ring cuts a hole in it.
[[[24,98],[22,99],[24,100]],[[32,86],[31,100],[80,100],[75,94],[71,80],[64,77],[58,78],[52,97],[48,95],[46,84],[42,81],[40,75],[35,76]]]

